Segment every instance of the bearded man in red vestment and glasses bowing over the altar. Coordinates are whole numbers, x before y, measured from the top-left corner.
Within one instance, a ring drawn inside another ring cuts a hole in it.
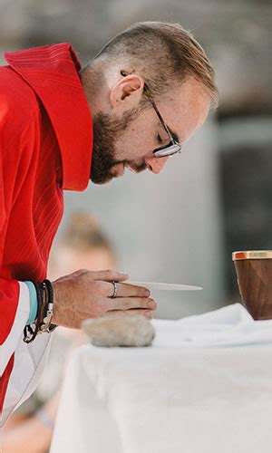
[[[34,391],[57,325],[79,328],[117,311],[151,318],[156,308],[146,288],[124,284],[128,275],[116,271],[46,279],[63,190],[84,190],[90,179],[104,184],[125,169],[160,173],[218,97],[209,59],[180,24],[134,24],[83,70],[68,43],[5,53],[5,60],[0,426]]]

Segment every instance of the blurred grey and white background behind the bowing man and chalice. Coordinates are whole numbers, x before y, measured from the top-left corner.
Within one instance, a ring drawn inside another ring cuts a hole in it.
[[[0,0],[4,64],[5,51],[61,42],[84,64],[112,35],[145,20],[179,22],[208,53],[219,109],[160,176],[130,173],[65,193],[58,236],[74,211],[87,211],[131,279],[203,286],[154,292],[159,317],[238,302],[232,251],[272,248],[271,17],[269,0]]]

